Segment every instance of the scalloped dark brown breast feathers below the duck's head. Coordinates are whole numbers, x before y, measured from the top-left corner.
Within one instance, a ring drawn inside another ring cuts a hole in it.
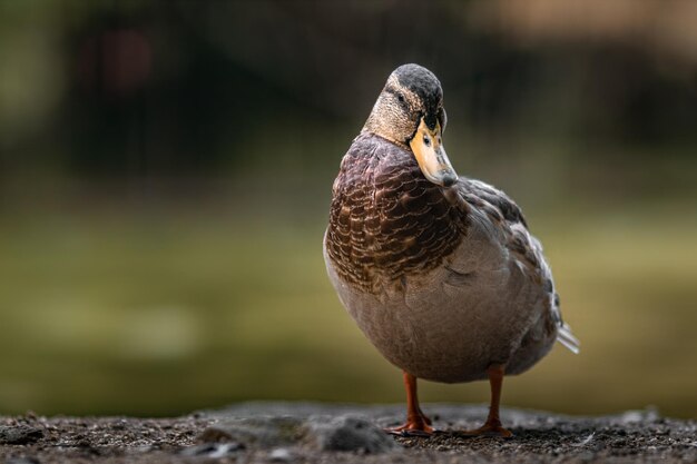
[[[467,204],[444,191],[408,150],[359,136],[334,181],[326,251],[338,276],[377,292],[439,266],[465,234]]]

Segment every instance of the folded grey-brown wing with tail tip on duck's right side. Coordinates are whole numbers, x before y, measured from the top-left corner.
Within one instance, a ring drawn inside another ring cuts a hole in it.
[[[483,210],[498,225],[503,245],[519,263],[537,274],[549,295],[551,319],[557,326],[557,340],[573,353],[579,353],[580,343],[563,322],[559,308],[559,295],[554,290],[552,273],[542,254],[542,245],[528,230],[528,223],[520,207],[503,191],[481,180],[461,177],[458,182],[460,196],[473,208]]]

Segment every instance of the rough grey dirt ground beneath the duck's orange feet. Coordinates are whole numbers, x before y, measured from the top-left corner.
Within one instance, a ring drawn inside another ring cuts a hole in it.
[[[514,436],[463,437],[483,406],[425,405],[441,431],[393,437],[402,406],[245,403],[176,418],[0,417],[0,463],[697,463],[697,423],[652,411],[503,409]]]

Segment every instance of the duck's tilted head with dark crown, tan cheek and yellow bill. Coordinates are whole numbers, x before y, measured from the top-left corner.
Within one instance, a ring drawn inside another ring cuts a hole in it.
[[[446,121],[438,78],[422,66],[402,65],[387,78],[363,130],[409,149],[426,179],[450,187],[458,175],[442,142]]]

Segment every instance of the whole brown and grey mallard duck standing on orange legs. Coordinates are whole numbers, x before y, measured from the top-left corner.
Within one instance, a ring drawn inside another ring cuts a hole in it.
[[[338,298],[380,353],[403,371],[406,423],[430,434],[416,379],[489,379],[483,426],[499,418],[504,375],[520,374],[554,340],[579,343],[562,322],[540,243],[513,200],[455,174],[442,142],[438,78],[419,65],[389,77],[334,181],[324,236]]]

